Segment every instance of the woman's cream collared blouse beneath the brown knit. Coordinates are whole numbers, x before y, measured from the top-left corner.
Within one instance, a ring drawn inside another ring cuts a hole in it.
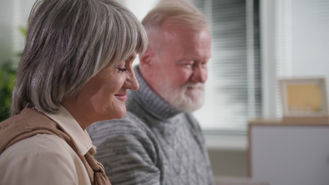
[[[95,148],[88,133],[63,106],[57,114],[46,115],[70,136],[81,155]],[[37,134],[13,144],[0,155],[0,167],[0,184],[90,185],[78,155],[56,135]]]

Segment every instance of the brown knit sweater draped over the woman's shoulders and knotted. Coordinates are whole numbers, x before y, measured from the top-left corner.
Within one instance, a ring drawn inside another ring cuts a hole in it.
[[[0,123],[0,154],[16,142],[37,134],[51,134],[62,138],[85,165],[92,185],[111,185],[103,165],[93,157],[93,148],[84,156],[80,155],[71,138],[54,121],[34,109],[25,108],[20,114]]]

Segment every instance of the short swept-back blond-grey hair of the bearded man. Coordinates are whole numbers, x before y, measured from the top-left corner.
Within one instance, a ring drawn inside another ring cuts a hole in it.
[[[187,26],[196,31],[208,27],[204,15],[186,0],[160,0],[145,16],[142,24],[147,29],[148,36],[157,35],[155,32],[167,20],[170,20],[170,24]]]

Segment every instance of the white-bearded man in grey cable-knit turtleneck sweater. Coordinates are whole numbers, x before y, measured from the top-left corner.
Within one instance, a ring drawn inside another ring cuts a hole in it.
[[[211,36],[190,3],[163,0],[143,20],[148,48],[135,67],[123,119],[91,125],[96,159],[116,185],[212,185],[208,153],[191,112],[203,104]]]

